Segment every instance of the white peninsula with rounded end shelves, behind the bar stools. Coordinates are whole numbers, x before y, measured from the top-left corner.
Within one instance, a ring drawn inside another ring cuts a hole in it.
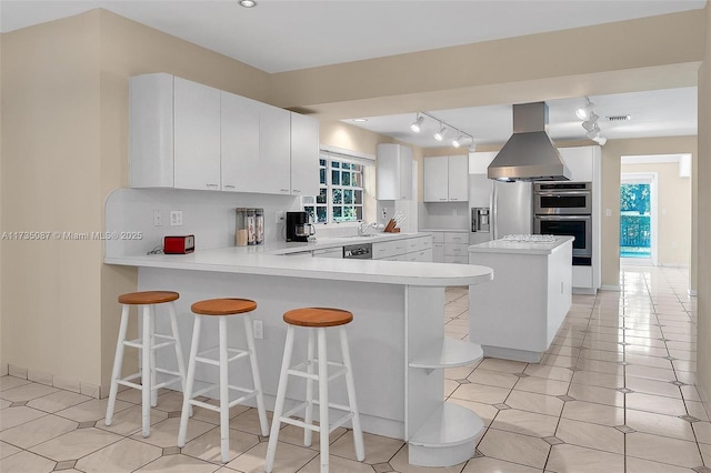
[[[283,312],[299,306],[353,312],[348,333],[363,430],[408,441],[409,461],[415,465],[454,465],[473,456],[483,423],[473,412],[443,402],[444,369],[470,364],[482,351],[474,343],[444,336],[444,289],[491,281],[491,268],[290,258],[244,248],[181,255],[113,254],[104,261],[137,266],[139,290],[180,292],[177,310],[183,340],[191,336],[190,304],[194,301],[219,296],[256,300],[253,318],[263,324],[263,338],[256,343],[268,409],[273,409],[283,353]],[[233,329],[238,343],[239,328]],[[158,329],[164,326],[158,323]],[[217,342],[211,332],[206,331],[203,336],[212,339],[202,343]],[[306,339],[299,335],[304,334],[297,333],[294,356],[304,356]],[[249,383],[249,371],[239,368],[230,366],[231,380]],[[209,368],[196,373],[203,382],[216,376]],[[331,392],[333,402],[346,403],[343,386],[334,383]],[[296,404],[304,395],[306,386],[292,383],[287,399]]]

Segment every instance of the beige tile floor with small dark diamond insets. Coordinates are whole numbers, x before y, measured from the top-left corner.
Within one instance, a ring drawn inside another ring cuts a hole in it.
[[[445,397],[484,419],[477,456],[448,469],[409,466],[401,442],[365,434],[354,461],[351,432],[331,435],[332,472],[709,473],[711,423],[693,386],[695,301],[688,272],[623,268],[622,292],[573,298],[539,364],[485,359],[447,371]],[[445,331],[468,336],[468,296],[447,291]],[[219,462],[218,419],[196,410],[187,445],[176,446],[180,394],[164,392],[140,434],[140,393],[122,392],[111,427],[106,400],[0,378],[0,471],[261,472],[267,439],[254,410],[236,407],[231,461]],[[318,441],[300,445],[287,426],[277,472],[318,472]],[[316,439],[314,439],[316,440]]]

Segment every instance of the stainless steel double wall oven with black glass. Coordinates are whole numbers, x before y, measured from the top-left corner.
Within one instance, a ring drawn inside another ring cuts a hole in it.
[[[533,233],[574,236],[573,265],[591,265],[592,183],[534,183]]]

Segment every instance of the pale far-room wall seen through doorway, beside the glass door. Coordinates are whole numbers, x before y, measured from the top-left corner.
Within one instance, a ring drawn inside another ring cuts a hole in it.
[[[658,264],[689,266],[691,256],[691,178],[679,177],[679,163],[622,164],[621,173],[657,175]],[[619,207],[618,207],[619,209]]]

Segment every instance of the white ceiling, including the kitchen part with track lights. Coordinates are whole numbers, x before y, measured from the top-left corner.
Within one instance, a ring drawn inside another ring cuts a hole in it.
[[[0,0],[0,31],[104,8],[218,51],[267,72],[298,70],[499,38],[578,28],[701,9],[705,0]],[[602,135],[638,138],[695,134],[695,88],[592,97]],[[581,139],[574,118],[583,98],[552,100],[550,134]],[[510,104],[429,111],[472,134],[478,143],[511,134]],[[631,114],[628,123],[605,115]],[[414,117],[369,118],[363,128],[420,147],[431,133],[413,135]],[[434,128],[434,127],[432,127]]]

